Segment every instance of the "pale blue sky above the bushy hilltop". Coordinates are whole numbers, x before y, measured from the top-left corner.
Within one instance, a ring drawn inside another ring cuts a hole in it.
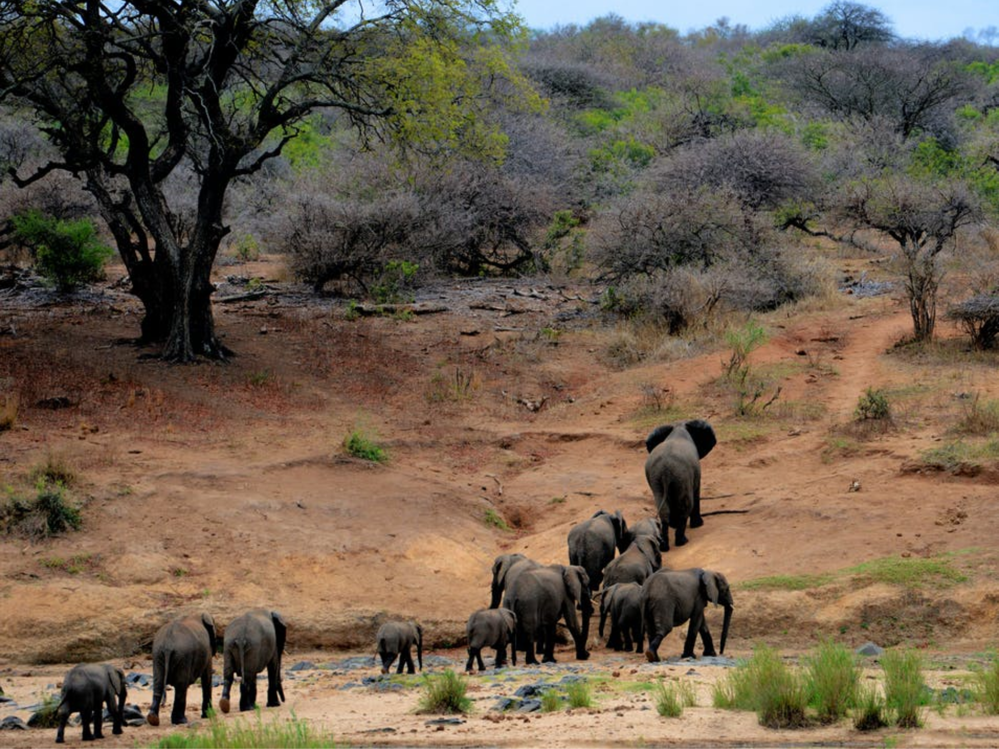
[[[559,24],[585,25],[594,18],[615,13],[627,21],[655,21],[681,32],[702,29],[722,16],[751,30],[768,26],[789,15],[811,18],[829,0],[516,0],[514,10],[533,29],[550,29]],[[877,8],[892,22],[894,31],[907,39],[942,41],[999,26],[999,4],[995,0],[882,0],[864,2]],[[999,43],[997,38],[993,43]]]

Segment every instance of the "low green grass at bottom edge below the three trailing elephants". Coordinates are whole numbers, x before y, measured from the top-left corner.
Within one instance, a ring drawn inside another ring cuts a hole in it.
[[[159,749],[320,749],[335,746],[333,737],[319,733],[309,723],[296,718],[264,723],[260,710],[256,722],[242,719],[221,720],[213,717],[206,730],[178,731],[164,736],[154,747]]]

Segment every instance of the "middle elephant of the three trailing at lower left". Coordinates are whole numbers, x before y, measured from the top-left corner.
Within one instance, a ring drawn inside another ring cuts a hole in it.
[[[187,690],[201,679],[201,717],[212,707],[212,657],[216,651],[215,621],[209,614],[182,616],[167,622],[153,638],[153,704],[146,720],[160,725],[160,703],[167,685],[174,687],[170,722],[187,723]]]

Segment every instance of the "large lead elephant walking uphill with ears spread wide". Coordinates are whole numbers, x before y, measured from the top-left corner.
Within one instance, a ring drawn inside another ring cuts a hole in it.
[[[687,519],[691,528],[704,524],[700,461],[717,441],[711,424],[702,418],[657,426],[645,439],[645,479],[662,520],[660,551],[669,550],[668,528],[674,529],[674,545],[682,546],[687,542]]]

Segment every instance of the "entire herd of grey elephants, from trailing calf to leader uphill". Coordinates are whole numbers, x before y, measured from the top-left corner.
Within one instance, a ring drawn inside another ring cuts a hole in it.
[[[493,564],[492,599],[489,608],[475,611],[468,619],[469,659],[485,669],[482,651],[496,650],[496,667],[505,663],[506,646],[516,665],[517,651],[527,664],[553,662],[555,628],[564,622],[579,660],[589,657],[586,643],[593,615],[594,596],[599,601],[599,635],[610,620],[607,647],[641,652],[659,660],[662,639],[676,626],[689,621],[683,657],[693,656],[697,635],[704,655],[715,655],[704,619],[707,603],[724,607],[718,652],[724,652],[732,614],[732,596],[720,572],[707,569],[670,570],[662,566],[662,552],[673,543],[687,542],[687,524],[703,524],[700,512],[700,459],[715,445],[711,425],[703,419],[664,424],[645,440],[648,457],[645,477],[655,498],[656,516],[630,528],[619,510],[597,511],[573,526],[568,533],[568,564],[542,564],[523,554],[500,554]],[[576,611],[580,616],[576,616]],[[219,707],[230,710],[230,691],[241,676],[240,710],[251,710],[257,702],[257,674],[268,675],[267,706],[285,699],[281,685],[281,657],[287,626],[277,611],[254,609],[238,616],[226,627],[222,643],[224,673]],[[390,621],[381,626],[376,645],[382,672],[388,673],[396,658],[398,672],[415,672],[412,650],[423,669],[423,628],[416,622]],[[201,681],[202,717],[212,703],[212,657],[217,649],[215,622],[211,615],[185,616],[164,624],[153,640],[153,701],[146,716],[151,725],[160,723],[160,707],[166,687],[174,687],[171,722],[187,722],[188,688]],[[79,712],[83,739],[101,738],[102,706],[107,704],[113,732],[122,732],[125,706],[125,676],[108,664],[75,666],[63,680],[57,708],[56,743],[63,742],[69,716]],[[93,723],[93,731],[90,724]]]

